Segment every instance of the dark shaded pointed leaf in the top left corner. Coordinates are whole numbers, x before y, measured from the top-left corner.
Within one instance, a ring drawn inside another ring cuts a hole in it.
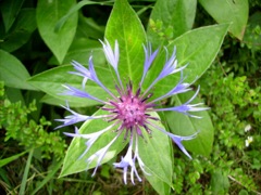
[[[2,20],[5,27],[5,32],[11,28],[14,21],[16,20],[23,3],[24,3],[24,0],[1,1],[0,10],[2,13]]]

